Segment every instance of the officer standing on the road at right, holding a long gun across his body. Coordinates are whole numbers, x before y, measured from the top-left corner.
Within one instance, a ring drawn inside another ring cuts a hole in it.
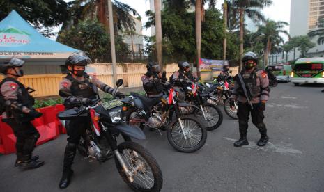
[[[269,79],[263,70],[256,69],[258,58],[253,52],[248,52],[242,58],[244,63],[244,70],[240,72],[245,83],[247,91],[252,98],[252,106],[247,102],[242,85],[238,79],[238,75],[234,77],[234,89],[231,95],[231,106],[234,106],[234,100],[238,101],[238,126],[240,130],[240,139],[234,143],[234,146],[241,147],[248,145],[247,141],[247,127],[249,120],[249,113],[252,116],[252,123],[259,129],[261,138],[258,141],[258,146],[264,146],[268,142],[267,129],[263,122],[265,111],[265,103],[269,97]]]

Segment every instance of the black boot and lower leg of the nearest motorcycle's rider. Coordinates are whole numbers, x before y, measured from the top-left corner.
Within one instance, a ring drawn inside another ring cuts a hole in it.
[[[73,159],[75,159],[75,153],[77,152],[77,145],[74,143],[68,143],[65,147],[64,162],[63,162],[63,175],[59,184],[60,189],[65,189],[71,182],[73,170],[71,166]]]

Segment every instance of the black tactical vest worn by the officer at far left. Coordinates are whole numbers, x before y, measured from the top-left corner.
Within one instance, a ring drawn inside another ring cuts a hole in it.
[[[33,109],[33,104],[35,104],[35,99],[29,95],[28,90],[24,87],[20,81],[17,81],[17,79],[14,79],[12,77],[6,77],[3,79],[0,83],[0,88],[3,85],[3,83],[7,81],[13,81],[14,83],[17,83],[18,85],[18,91],[17,91],[17,102],[22,104],[22,106],[26,106],[28,109]],[[20,91],[19,91],[20,90]],[[3,97],[3,95],[1,95]],[[15,120],[17,122],[28,122],[30,120],[33,120],[31,116],[27,115],[26,113],[22,113],[21,111],[12,110],[10,107],[6,108],[4,106],[5,99],[3,97],[3,105],[1,104],[1,107],[3,108],[3,112],[6,110],[6,113],[8,116],[11,114],[14,116]]]

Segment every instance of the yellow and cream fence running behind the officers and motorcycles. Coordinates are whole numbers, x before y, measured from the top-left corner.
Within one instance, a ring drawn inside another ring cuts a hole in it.
[[[94,63],[89,65],[95,70],[95,76],[100,81],[114,87],[111,63]],[[178,70],[177,64],[170,64],[166,67],[167,77]],[[238,73],[238,67],[231,67],[232,74]],[[141,76],[146,73],[146,65],[142,63],[123,63],[117,65],[117,78],[123,79],[123,87],[141,87]],[[213,79],[219,72],[201,72],[201,79]],[[34,97],[47,97],[58,95],[59,83],[65,77],[64,74],[33,74],[20,77],[19,81],[25,86],[34,88]]]

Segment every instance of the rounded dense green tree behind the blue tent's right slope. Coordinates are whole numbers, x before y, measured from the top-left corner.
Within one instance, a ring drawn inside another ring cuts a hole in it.
[[[95,20],[85,20],[79,22],[77,26],[62,31],[57,41],[65,45],[88,52],[91,58],[97,61],[110,61],[111,49],[109,34],[106,33],[102,24]],[[127,53],[126,45],[120,35],[116,35],[116,52]]]

